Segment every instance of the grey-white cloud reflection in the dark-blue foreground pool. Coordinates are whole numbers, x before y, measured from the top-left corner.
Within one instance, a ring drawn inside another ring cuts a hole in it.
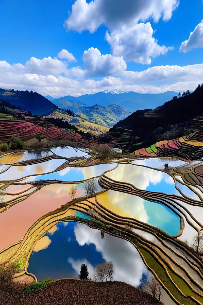
[[[89,228],[85,224],[80,223],[75,225],[74,232],[75,238],[80,246],[94,244],[96,250],[102,254],[104,260],[113,262],[115,280],[138,286],[142,274],[148,274],[138,251],[130,242],[108,234],[105,234],[105,237],[101,240],[99,230]],[[79,264],[70,259],[69,262],[78,272]],[[90,270],[92,270],[91,266]]]

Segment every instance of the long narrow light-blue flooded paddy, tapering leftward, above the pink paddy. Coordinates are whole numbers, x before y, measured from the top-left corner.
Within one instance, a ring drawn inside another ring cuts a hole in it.
[[[115,164],[99,164],[89,167],[66,167],[63,170],[51,174],[44,174],[40,176],[32,176],[26,178],[25,181],[37,180],[61,180],[61,181],[81,181],[84,179],[100,176],[106,170],[115,167]]]

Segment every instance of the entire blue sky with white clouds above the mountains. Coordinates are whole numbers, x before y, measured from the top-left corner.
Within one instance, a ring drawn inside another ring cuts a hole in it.
[[[61,97],[203,82],[202,0],[1,0],[0,87]]]

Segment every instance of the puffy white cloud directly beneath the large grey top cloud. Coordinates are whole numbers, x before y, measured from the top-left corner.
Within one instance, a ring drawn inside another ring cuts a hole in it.
[[[138,23],[133,27],[123,26],[119,31],[106,32],[106,40],[115,56],[123,56],[126,61],[150,64],[151,57],[166,54],[171,47],[160,46],[153,35],[149,22]]]

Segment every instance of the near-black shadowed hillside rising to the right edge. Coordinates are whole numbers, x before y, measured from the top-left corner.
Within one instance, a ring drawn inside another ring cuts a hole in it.
[[[122,134],[128,130],[128,147],[131,142],[130,150],[133,151],[133,146],[139,149],[158,141],[187,135],[194,130],[192,119],[203,114],[202,95],[203,84],[193,93],[165,102],[154,110],[135,111],[110,129],[105,142],[110,143],[118,132]]]

